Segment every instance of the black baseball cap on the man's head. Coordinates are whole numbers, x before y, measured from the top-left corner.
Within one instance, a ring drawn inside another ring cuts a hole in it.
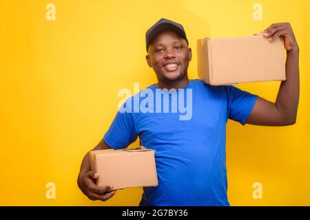
[[[147,30],[145,34],[146,50],[147,48],[149,48],[149,44],[154,39],[154,36],[156,36],[156,34],[159,34],[160,32],[163,32],[164,30],[171,30],[173,32],[176,32],[178,36],[181,36],[183,39],[185,39],[188,45],[185,30],[181,24],[170,21],[168,19],[160,19],[151,28],[149,28],[149,30]]]

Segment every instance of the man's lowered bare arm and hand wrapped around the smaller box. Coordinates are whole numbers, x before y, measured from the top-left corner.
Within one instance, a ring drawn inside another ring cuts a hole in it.
[[[101,140],[101,142],[99,142],[99,144],[97,144],[97,146],[94,147],[92,151],[103,149],[111,149],[111,147],[108,146],[104,140]],[[78,186],[81,191],[88,197],[88,199],[107,201],[107,199],[110,199],[115,195],[116,190],[111,192],[110,188],[113,188],[113,186],[96,186],[95,181],[98,179],[99,173],[95,173],[90,170],[90,159],[88,153],[89,152],[87,152],[84,156],[83,162],[81,164],[81,170],[77,180]]]

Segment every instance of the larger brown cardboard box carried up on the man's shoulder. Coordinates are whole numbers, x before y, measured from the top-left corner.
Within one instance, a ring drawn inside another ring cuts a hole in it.
[[[209,85],[286,80],[282,39],[252,36],[197,40],[198,76]]]

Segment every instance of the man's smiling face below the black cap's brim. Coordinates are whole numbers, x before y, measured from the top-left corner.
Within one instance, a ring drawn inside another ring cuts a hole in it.
[[[192,50],[185,39],[175,32],[164,31],[157,34],[147,52],[147,64],[153,67],[158,81],[173,83],[187,77]]]

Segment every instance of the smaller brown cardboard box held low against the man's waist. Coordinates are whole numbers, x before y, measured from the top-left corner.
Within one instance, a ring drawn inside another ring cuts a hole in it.
[[[99,173],[98,186],[113,185],[112,190],[158,186],[154,150],[143,146],[90,151],[90,166]]]

